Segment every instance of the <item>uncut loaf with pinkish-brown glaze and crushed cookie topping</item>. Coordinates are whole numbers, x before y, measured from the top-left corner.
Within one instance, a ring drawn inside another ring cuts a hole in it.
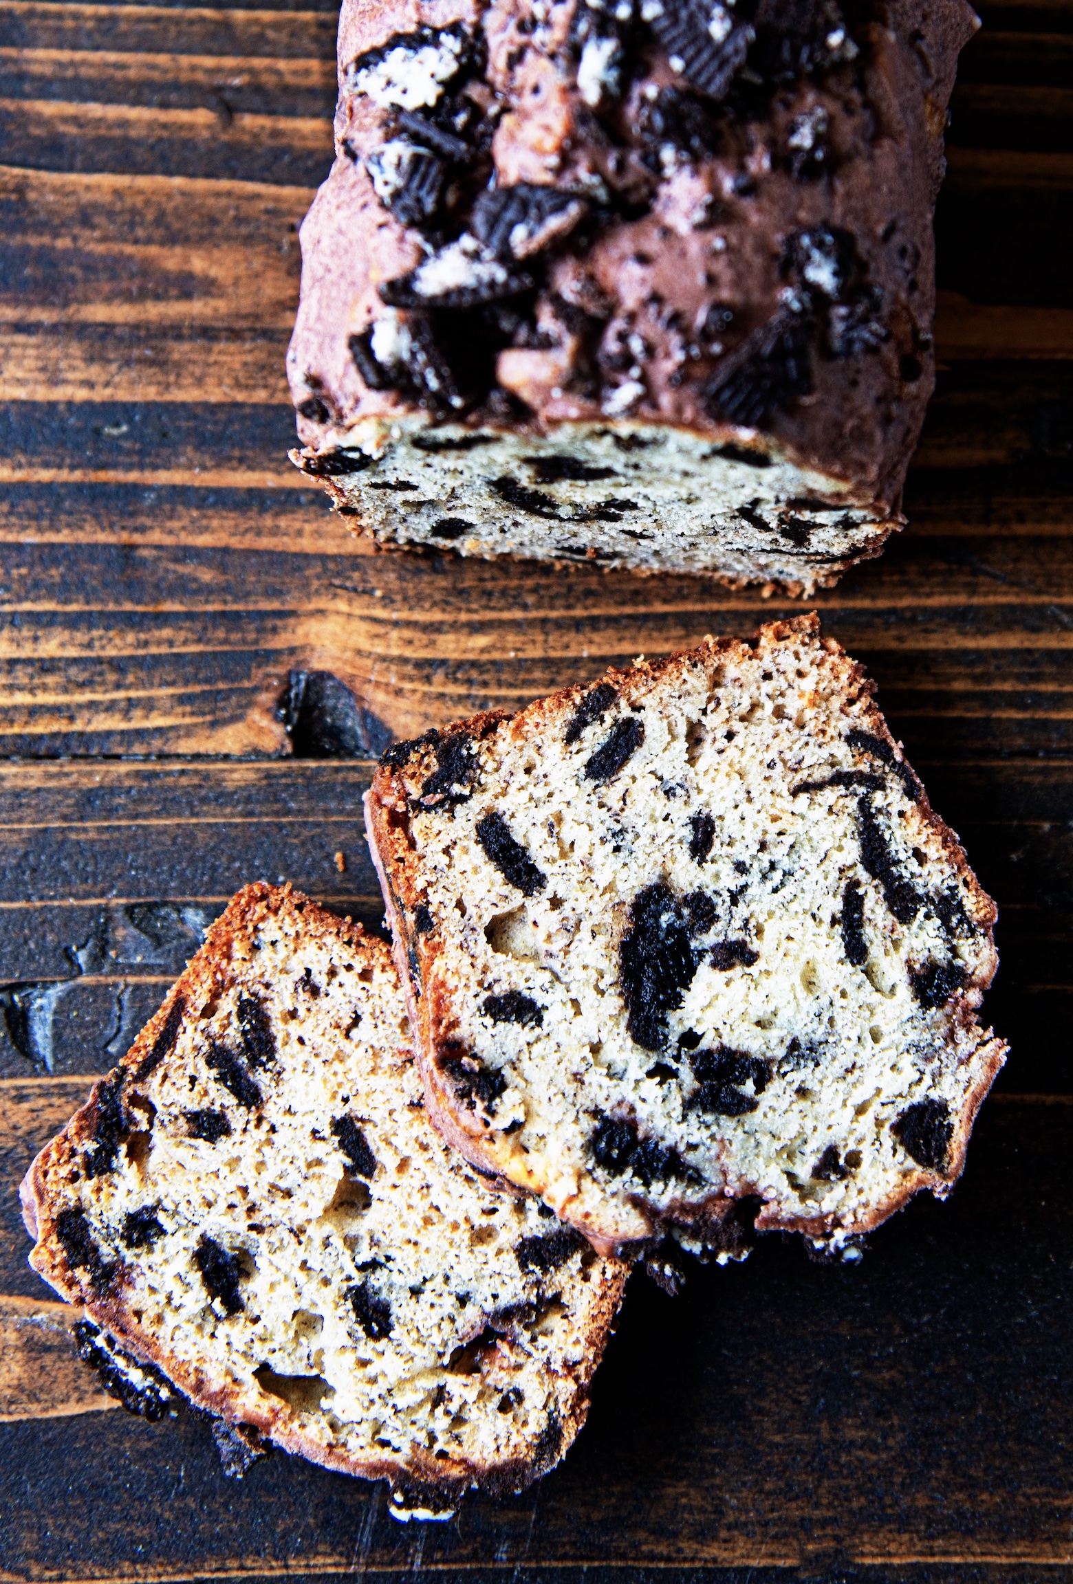
[[[878,553],[973,27],[965,0],[346,0],[296,463],[382,543],[792,589]]]

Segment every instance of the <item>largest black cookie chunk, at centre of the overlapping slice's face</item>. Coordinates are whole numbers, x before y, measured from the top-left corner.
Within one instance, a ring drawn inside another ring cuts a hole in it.
[[[642,1050],[659,1052],[667,1042],[667,1014],[682,1006],[697,971],[682,904],[663,881],[634,897],[618,965],[629,1034]]]

